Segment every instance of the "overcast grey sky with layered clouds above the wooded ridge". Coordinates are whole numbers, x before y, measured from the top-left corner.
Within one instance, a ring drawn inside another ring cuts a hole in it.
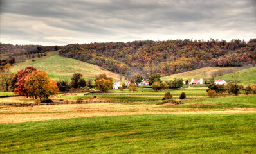
[[[256,0],[0,0],[0,42],[256,38]]]

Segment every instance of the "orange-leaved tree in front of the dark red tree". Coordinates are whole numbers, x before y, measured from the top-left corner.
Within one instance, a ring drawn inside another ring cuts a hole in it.
[[[33,71],[26,76],[24,87],[28,89],[28,96],[33,99],[48,98],[59,92],[55,81],[51,81],[46,72],[40,70]]]

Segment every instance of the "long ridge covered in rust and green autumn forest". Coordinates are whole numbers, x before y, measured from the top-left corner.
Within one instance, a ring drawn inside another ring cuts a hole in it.
[[[207,66],[238,67],[255,64],[256,39],[242,40],[167,40],[91,44],[68,44],[60,56],[95,64],[125,76],[152,73],[162,76]],[[127,73],[128,72],[128,73]]]

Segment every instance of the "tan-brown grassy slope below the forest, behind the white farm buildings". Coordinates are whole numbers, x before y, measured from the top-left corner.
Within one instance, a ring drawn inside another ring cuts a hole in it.
[[[202,73],[207,74],[206,78],[212,78],[211,73],[214,71],[219,71],[219,70],[224,71],[224,70],[233,69],[233,68],[236,68],[236,67],[203,67],[201,69],[196,69],[196,70],[187,71],[187,72],[183,72],[183,73],[173,74],[170,76],[164,76],[163,78],[161,78],[161,80],[169,81],[174,78],[183,78],[184,80],[191,80],[192,78],[199,79],[199,78],[203,78],[203,76],[201,75]]]

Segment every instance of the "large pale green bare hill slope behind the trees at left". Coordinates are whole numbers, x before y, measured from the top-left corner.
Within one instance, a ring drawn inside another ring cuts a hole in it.
[[[12,67],[13,72],[17,72],[24,67],[33,66],[42,71],[46,71],[51,80],[58,80],[59,77],[70,78],[73,73],[81,73],[85,78],[94,78],[95,75],[105,73],[114,80],[120,80],[118,74],[99,66],[81,62],[72,58],[65,58],[58,55],[58,52],[50,52],[47,57],[36,58],[35,62],[29,60],[27,62],[17,63]]]

